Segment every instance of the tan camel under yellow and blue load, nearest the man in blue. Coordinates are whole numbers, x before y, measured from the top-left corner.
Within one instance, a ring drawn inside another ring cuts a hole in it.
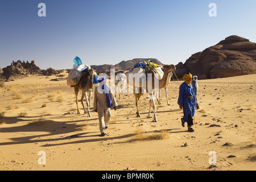
[[[154,118],[153,118],[153,121],[152,122],[157,122],[157,118],[156,118],[156,114],[155,114],[155,101],[154,101],[154,98],[155,98],[155,94],[157,93],[157,90],[158,89],[162,89],[164,88],[165,86],[168,85],[168,82],[170,80],[170,77],[168,76],[169,73],[171,73],[172,71],[175,71],[175,65],[171,64],[171,65],[164,65],[163,66],[164,68],[164,75],[162,77],[162,79],[158,80],[158,85],[156,85],[156,88],[155,88],[155,81],[154,81],[154,78],[152,77],[154,75],[155,77],[155,72],[150,69],[148,72],[147,72],[147,77],[146,77],[146,88],[144,88],[145,85],[142,85],[141,83],[139,84],[139,87],[137,89],[137,91],[139,92],[135,92],[135,78],[133,77],[133,80],[130,80],[129,81],[129,77],[127,77],[127,82],[129,83],[129,85],[133,86],[133,92],[134,92],[134,95],[135,95],[135,104],[136,104],[136,107],[137,107],[137,117],[141,117],[141,115],[139,114],[139,98],[141,98],[141,96],[143,95],[143,89],[146,90],[146,93],[149,93],[150,95],[150,106],[149,106],[149,109],[148,109],[148,115],[147,115],[147,118],[151,118],[151,107],[153,107],[153,110],[154,110]],[[130,69],[130,71],[128,72],[128,75],[129,73],[132,71],[133,69]],[[151,78],[150,78],[150,73],[151,73]],[[148,81],[148,79],[150,79],[151,81]],[[150,86],[148,86],[148,84],[150,84]]]

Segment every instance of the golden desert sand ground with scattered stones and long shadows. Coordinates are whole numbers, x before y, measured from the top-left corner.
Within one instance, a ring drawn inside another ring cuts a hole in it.
[[[168,85],[170,106],[162,90],[158,122],[147,118],[147,94],[141,118],[135,97],[126,94],[117,98],[105,137],[92,106],[91,118],[81,103],[76,114],[73,88],[52,78],[30,75],[0,87],[0,170],[256,169],[256,75],[199,80],[193,133],[181,126],[179,81]]]

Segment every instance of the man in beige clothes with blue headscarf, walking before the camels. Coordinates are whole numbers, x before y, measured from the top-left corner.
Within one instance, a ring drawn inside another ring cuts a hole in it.
[[[94,90],[93,110],[98,113],[101,136],[104,137],[105,130],[108,128],[107,123],[111,117],[110,109],[113,106],[116,110],[117,102],[110,86],[106,84],[106,78],[99,78],[98,82],[100,84]]]

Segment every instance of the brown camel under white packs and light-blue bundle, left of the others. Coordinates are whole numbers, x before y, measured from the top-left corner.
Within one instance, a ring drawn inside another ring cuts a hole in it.
[[[91,105],[91,96],[92,96],[93,76],[94,75],[97,76],[94,69],[87,69],[84,73],[82,73],[82,77],[79,80],[78,84],[72,86],[75,89],[77,114],[80,114],[77,96],[78,96],[79,90],[82,90],[81,104],[82,104],[82,107],[84,108],[84,113],[86,113],[86,110],[84,107],[84,102],[83,102],[84,97],[85,97],[87,111],[88,111],[88,117],[92,117],[90,115],[89,107]],[[89,93],[89,100],[88,100],[87,93]]]

